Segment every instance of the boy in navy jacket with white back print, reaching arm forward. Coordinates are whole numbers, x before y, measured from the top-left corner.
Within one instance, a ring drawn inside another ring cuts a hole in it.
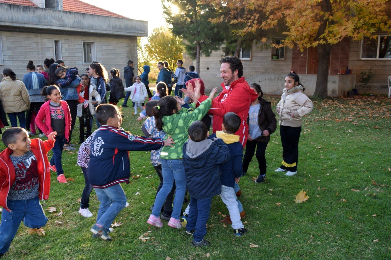
[[[88,180],[100,201],[97,221],[90,231],[104,240],[111,240],[108,235],[111,223],[126,205],[126,196],[120,183],[129,183],[129,151],[158,150],[172,143],[160,138],[146,138],[125,132],[119,126],[122,117],[118,108],[111,104],[97,107],[96,116],[102,125],[91,144]]]

